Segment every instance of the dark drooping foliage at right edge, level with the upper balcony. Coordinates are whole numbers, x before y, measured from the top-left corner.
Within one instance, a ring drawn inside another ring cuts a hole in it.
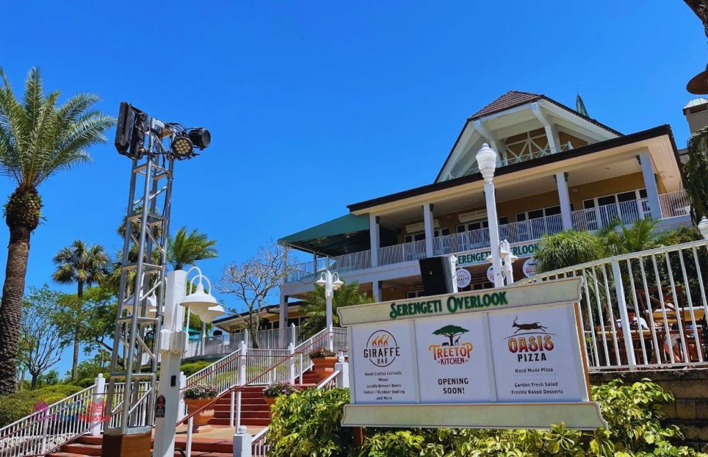
[[[688,159],[680,170],[695,225],[703,216],[708,216],[708,127],[691,135],[687,149]]]

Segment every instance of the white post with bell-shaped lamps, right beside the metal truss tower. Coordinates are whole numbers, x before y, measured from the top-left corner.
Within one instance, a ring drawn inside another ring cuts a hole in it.
[[[190,272],[196,270],[197,275],[188,282]],[[194,282],[199,284],[192,294]],[[205,292],[202,279],[209,284]],[[184,311],[187,308],[202,319],[202,322],[212,322],[217,316],[224,314],[224,308],[217,303],[211,294],[211,283],[201,270],[192,267],[188,272],[176,270],[166,274],[165,278],[164,320],[160,330],[160,381],[157,395],[164,397],[164,415],[155,417],[155,457],[172,457],[175,447],[175,424],[179,418],[179,369],[182,364],[182,354],[189,338],[184,332]],[[180,306],[178,306],[180,305]]]

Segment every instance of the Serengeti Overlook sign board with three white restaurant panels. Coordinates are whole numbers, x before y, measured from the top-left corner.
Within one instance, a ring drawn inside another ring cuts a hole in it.
[[[350,341],[343,425],[596,429],[581,279],[338,308]]]

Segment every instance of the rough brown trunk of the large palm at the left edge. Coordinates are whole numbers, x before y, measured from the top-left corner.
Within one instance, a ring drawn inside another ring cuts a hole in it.
[[[30,253],[29,228],[21,224],[9,228],[10,243],[0,304],[0,395],[8,395],[17,389],[18,340]]]

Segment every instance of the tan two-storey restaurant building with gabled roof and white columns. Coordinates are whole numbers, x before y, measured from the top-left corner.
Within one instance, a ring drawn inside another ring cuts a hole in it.
[[[692,100],[684,112],[702,127],[707,107]],[[589,117],[579,96],[573,110],[542,94],[509,91],[464,122],[433,183],[349,204],[348,214],[280,239],[312,260],[280,288],[273,328],[293,317],[282,305],[302,299],[328,268],[377,301],[406,299],[423,294],[419,259],[455,254],[472,278],[462,290],[492,287],[475,159],[484,143],[498,152],[498,224],[518,256],[515,279],[533,274],[530,259],[546,233],[595,231],[615,218],[632,224],[651,217],[658,229],[690,224],[669,125],[622,134]]]

